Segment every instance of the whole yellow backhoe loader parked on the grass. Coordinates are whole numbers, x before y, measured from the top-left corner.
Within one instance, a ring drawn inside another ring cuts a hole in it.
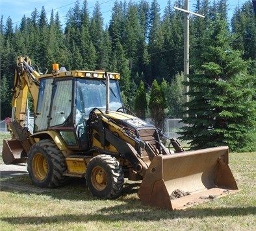
[[[114,199],[124,179],[138,181],[144,204],[185,209],[238,191],[228,165],[228,147],[185,151],[123,106],[120,74],[66,71],[53,64],[42,74],[19,56],[14,76],[12,138],[3,140],[5,164],[27,162],[32,184],[55,188],[84,177],[92,195]],[[27,98],[34,131],[25,127]]]

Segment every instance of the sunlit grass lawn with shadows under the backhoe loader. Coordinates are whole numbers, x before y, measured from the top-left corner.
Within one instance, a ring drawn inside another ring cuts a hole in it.
[[[142,204],[131,181],[118,199],[100,200],[83,179],[49,190],[32,186],[28,175],[1,177],[16,188],[1,184],[0,230],[255,230],[256,152],[230,153],[229,166],[238,193],[173,211]]]

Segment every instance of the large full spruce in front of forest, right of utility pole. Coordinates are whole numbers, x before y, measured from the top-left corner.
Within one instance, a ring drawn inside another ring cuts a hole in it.
[[[251,142],[254,89],[248,88],[252,84],[246,74],[248,62],[231,49],[231,41],[227,22],[219,17],[201,38],[202,52],[187,83],[190,102],[183,123],[188,126],[180,133],[183,140],[191,140],[193,149],[227,145],[238,151]]]

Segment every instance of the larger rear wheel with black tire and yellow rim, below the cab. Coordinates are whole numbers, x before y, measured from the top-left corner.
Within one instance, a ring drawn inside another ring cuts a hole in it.
[[[55,188],[66,183],[68,177],[63,154],[53,140],[40,140],[31,146],[27,159],[27,171],[34,185]]]

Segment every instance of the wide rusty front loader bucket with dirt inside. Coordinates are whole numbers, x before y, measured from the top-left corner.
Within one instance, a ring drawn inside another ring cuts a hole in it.
[[[235,193],[228,154],[222,146],[154,157],[138,197],[144,204],[181,210]]]

